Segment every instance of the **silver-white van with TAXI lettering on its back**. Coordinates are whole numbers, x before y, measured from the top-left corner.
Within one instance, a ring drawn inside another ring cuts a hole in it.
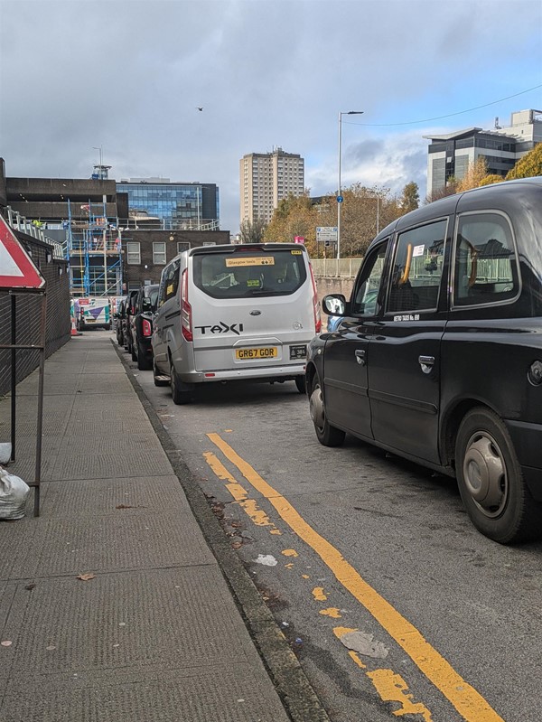
[[[210,381],[294,380],[304,392],[307,344],[321,331],[301,244],[203,246],[162,273],[154,316],[154,384],[176,404]]]

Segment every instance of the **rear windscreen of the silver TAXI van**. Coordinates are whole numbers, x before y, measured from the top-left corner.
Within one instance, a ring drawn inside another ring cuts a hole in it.
[[[307,277],[303,251],[285,248],[196,254],[193,278],[213,298],[288,295]]]

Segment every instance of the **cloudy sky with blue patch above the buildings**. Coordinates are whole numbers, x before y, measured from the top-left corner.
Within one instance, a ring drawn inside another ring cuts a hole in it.
[[[239,159],[304,157],[311,195],[426,194],[423,136],[542,110],[541,0],[0,0],[8,177],[216,183],[238,231]],[[198,110],[197,108],[203,108]]]

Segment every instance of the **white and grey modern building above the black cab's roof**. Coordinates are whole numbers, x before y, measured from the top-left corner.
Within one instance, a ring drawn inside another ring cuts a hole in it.
[[[492,130],[469,127],[443,136],[424,136],[431,141],[427,155],[427,194],[442,190],[450,178],[461,180],[469,164],[483,155],[488,173],[505,176],[522,155],[542,143],[542,110],[512,113],[509,126],[495,118]]]

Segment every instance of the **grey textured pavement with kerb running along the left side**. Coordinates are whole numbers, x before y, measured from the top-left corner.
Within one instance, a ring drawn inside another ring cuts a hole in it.
[[[7,466],[29,484],[38,379]],[[111,333],[45,362],[42,432],[40,515],[31,490],[0,521],[0,720],[326,722]]]

